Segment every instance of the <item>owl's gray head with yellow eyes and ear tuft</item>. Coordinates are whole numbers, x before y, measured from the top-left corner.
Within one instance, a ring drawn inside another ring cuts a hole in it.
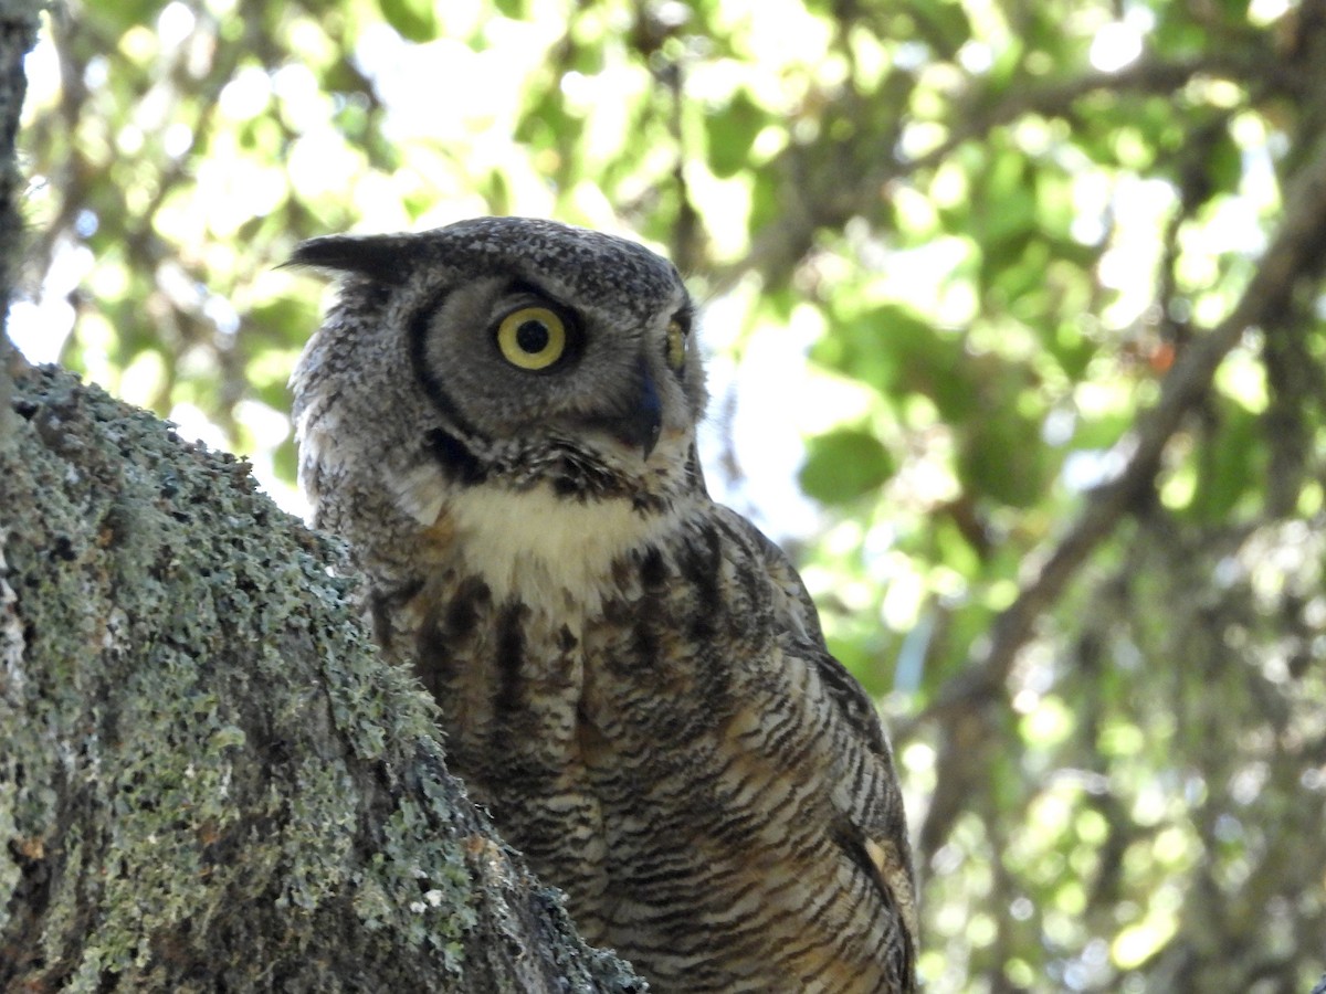
[[[396,480],[426,464],[464,484],[594,497],[674,486],[693,464],[693,307],[642,245],[483,217],[313,239],[290,262],[341,277],[292,380],[324,473],[351,432],[369,449],[357,459]]]

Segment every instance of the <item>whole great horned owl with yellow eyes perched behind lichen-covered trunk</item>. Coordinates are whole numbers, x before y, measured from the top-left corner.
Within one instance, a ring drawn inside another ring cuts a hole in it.
[[[640,245],[488,217],[325,237],[293,376],[316,524],[448,761],[655,991],[911,991],[902,798],[786,557],[696,460],[695,311]]]

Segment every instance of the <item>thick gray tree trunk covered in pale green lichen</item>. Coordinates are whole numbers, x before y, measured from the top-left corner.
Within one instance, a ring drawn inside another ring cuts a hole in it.
[[[0,304],[36,16],[0,0]],[[0,334],[0,991],[644,990],[448,775],[341,565]]]

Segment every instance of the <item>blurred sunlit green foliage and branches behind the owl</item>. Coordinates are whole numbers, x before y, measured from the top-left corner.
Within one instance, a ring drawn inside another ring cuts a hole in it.
[[[1213,376],[1184,359],[1326,142],[1323,28],[1321,0],[68,0],[29,60],[12,326],[288,497],[298,239],[636,233],[723,318],[716,484],[796,541],[892,714],[930,989],[1306,991],[1322,266],[1270,273]],[[810,436],[810,534],[751,484],[794,444],[770,412]]]

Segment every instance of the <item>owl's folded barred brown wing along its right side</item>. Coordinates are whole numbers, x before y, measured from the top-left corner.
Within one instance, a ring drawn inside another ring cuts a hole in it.
[[[879,892],[898,922],[896,957],[904,977],[914,975],[918,917],[911,846],[892,750],[866,690],[829,652],[819,615],[786,554],[754,525],[723,509],[729,527],[741,530],[762,562],[780,602],[784,653],[804,660],[817,677],[810,693],[829,710],[825,737],[831,741],[833,823],[827,832]]]

